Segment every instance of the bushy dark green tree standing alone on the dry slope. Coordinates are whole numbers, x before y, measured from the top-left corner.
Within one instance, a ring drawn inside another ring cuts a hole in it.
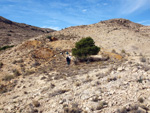
[[[90,55],[96,55],[100,48],[95,46],[95,42],[91,37],[82,38],[76,42],[75,48],[72,49],[72,55],[78,59],[86,59]]]

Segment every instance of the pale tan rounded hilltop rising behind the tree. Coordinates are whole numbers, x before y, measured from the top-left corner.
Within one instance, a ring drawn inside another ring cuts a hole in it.
[[[107,51],[150,55],[150,26],[140,25],[126,19],[111,19],[91,25],[69,27],[53,32],[51,35],[73,41],[91,36],[96,45]]]

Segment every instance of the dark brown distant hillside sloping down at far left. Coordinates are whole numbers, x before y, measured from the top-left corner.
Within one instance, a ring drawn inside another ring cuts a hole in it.
[[[52,29],[16,23],[0,16],[0,47],[16,45],[30,38],[53,31]]]

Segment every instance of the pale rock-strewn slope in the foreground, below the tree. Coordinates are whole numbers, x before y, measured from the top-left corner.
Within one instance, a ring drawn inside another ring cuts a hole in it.
[[[109,60],[68,67],[61,55],[56,59],[12,79],[0,95],[0,112],[149,112],[149,60]]]

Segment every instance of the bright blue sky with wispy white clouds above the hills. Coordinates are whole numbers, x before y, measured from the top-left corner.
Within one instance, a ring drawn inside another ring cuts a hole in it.
[[[150,0],[0,0],[0,16],[56,30],[113,18],[150,25]]]

